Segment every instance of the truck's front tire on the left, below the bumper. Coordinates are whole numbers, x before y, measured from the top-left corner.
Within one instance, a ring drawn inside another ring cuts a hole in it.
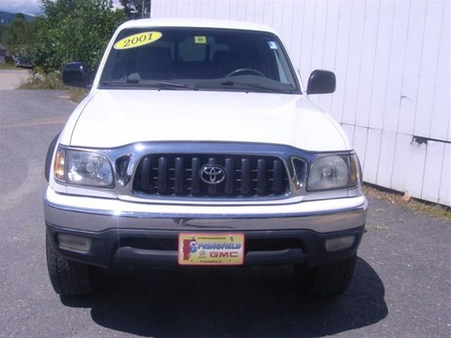
[[[54,251],[46,236],[47,268],[51,285],[61,296],[82,296],[94,293],[94,267],[69,261]]]

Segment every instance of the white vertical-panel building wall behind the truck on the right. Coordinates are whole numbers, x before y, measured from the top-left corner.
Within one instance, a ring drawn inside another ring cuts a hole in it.
[[[152,17],[276,28],[304,82],[337,75],[311,99],[349,135],[364,180],[451,206],[450,1],[152,0]]]

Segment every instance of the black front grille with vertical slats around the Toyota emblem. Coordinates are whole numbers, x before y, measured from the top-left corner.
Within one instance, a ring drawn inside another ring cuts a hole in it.
[[[199,175],[204,166],[221,168],[222,182],[204,182]],[[255,155],[147,155],[138,163],[133,182],[135,192],[161,196],[268,197],[288,189],[280,158]]]

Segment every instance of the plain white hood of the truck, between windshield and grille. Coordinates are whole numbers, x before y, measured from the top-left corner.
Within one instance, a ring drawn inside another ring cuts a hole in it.
[[[146,89],[101,89],[91,95],[75,124],[72,146],[217,141],[350,149],[341,127],[302,95]]]

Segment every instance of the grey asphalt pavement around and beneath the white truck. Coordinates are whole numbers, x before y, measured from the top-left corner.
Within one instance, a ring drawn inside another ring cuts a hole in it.
[[[53,91],[0,91],[0,103],[0,337],[451,337],[451,224],[377,199],[350,290],[332,302],[297,294],[288,267],[128,273],[60,298],[42,169],[75,106]]]

